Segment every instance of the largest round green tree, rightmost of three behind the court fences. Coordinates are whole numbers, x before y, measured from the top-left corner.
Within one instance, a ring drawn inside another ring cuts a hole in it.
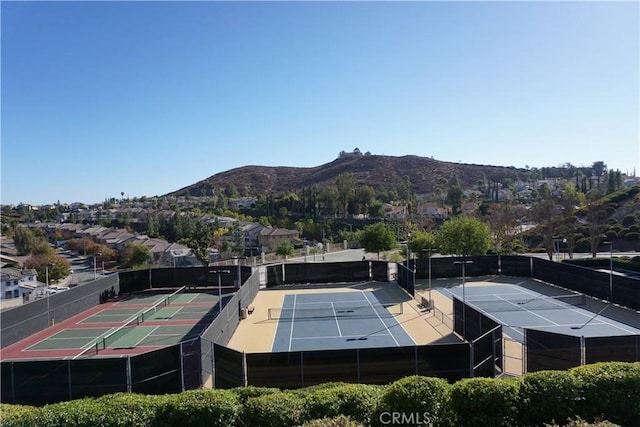
[[[483,255],[491,247],[491,231],[484,222],[462,216],[442,224],[436,244],[439,252],[445,255]]]

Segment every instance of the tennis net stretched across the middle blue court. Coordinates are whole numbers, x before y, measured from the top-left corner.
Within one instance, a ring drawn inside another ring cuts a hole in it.
[[[270,308],[269,320],[304,320],[333,318],[376,318],[393,317],[404,313],[402,302],[394,304],[369,304],[356,307],[318,307],[318,308]]]

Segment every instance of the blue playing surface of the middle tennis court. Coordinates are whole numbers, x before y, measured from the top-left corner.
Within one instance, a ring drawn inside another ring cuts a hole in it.
[[[269,313],[278,319],[272,351],[415,345],[395,318],[401,309],[371,291],[285,295]]]

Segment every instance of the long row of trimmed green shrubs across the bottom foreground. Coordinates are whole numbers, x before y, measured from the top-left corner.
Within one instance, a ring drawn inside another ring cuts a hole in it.
[[[3,404],[0,409],[3,427],[541,426],[576,419],[639,426],[640,363],[598,363],[454,384],[412,376],[386,386],[118,393],[43,407]]]

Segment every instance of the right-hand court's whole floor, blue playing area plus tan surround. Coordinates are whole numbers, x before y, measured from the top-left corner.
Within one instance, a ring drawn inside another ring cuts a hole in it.
[[[531,278],[466,278],[464,290],[461,278],[433,280],[431,285],[429,291],[428,282],[421,280],[416,284],[416,292],[423,298],[432,296],[435,308],[429,323],[442,333],[453,329],[454,298],[460,307],[464,300],[468,307],[502,325],[505,374],[526,372],[527,331],[576,340],[628,338],[640,333],[637,311]],[[463,310],[458,312],[458,317],[464,315]]]

